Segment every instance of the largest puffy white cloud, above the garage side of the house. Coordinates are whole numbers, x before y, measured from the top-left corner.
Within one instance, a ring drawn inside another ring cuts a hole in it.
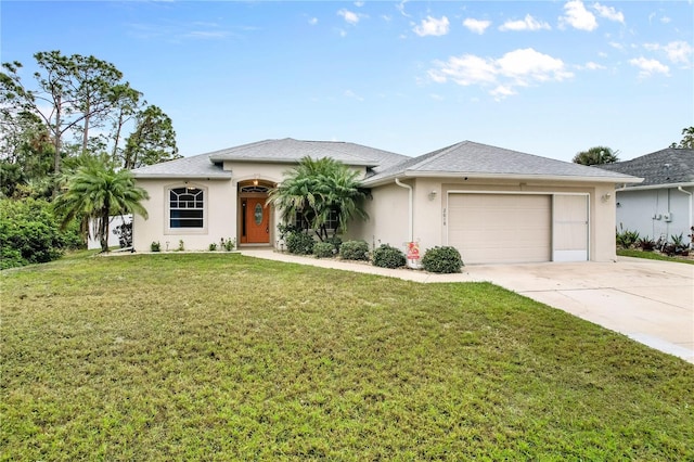
[[[474,54],[451,56],[446,62],[435,62],[427,72],[437,84],[452,81],[461,86],[494,86],[490,94],[496,99],[516,94],[517,87],[528,87],[545,81],[562,81],[574,76],[564,62],[531,48],[505,53],[499,59],[485,59]]]

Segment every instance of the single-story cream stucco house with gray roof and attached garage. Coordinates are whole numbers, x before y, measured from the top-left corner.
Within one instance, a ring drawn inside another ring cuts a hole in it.
[[[134,248],[207,249],[220,239],[278,246],[268,191],[303,157],[332,157],[363,175],[368,221],[344,239],[422,253],[455,246],[465,264],[615,258],[615,184],[640,179],[464,141],[419,157],[359,144],[266,140],[133,170],[150,193]]]

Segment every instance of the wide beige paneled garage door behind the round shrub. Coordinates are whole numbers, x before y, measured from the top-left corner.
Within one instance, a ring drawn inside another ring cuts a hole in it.
[[[465,264],[552,259],[552,197],[532,194],[449,194],[448,245]]]

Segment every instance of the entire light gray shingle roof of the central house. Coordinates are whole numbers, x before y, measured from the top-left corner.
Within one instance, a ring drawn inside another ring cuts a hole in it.
[[[402,176],[476,176],[483,178],[562,178],[629,183],[628,175],[463,141],[419,157],[355,143],[265,140],[211,153],[183,157],[132,170],[136,178],[230,179],[223,161],[296,164],[303,157],[332,157],[347,165],[368,167],[367,185]]]

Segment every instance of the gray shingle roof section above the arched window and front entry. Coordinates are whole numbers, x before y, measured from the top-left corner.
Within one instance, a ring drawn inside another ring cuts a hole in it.
[[[231,178],[222,170],[224,161],[297,164],[303,157],[332,157],[346,165],[370,168],[371,172],[387,168],[409,157],[355,143],[336,141],[301,141],[285,138],[243,144],[211,153],[183,157],[132,170],[136,178]]]

